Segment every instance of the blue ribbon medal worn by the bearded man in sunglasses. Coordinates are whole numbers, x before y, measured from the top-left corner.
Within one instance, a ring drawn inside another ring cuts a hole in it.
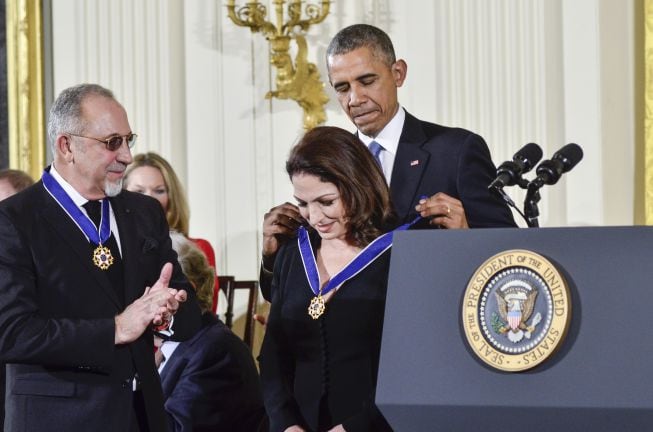
[[[43,171],[41,177],[45,190],[54,198],[54,200],[61,206],[63,211],[75,222],[77,228],[86,236],[89,242],[97,247],[93,251],[93,264],[102,270],[107,270],[113,264],[114,258],[111,250],[103,246],[109,237],[111,237],[111,225],[109,221],[109,200],[102,200],[102,217],[100,219],[100,228],[95,226],[95,223],[85,215],[79,207],[73,202],[72,198],[68,196],[66,191],[59,183],[52,177],[48,171]]]

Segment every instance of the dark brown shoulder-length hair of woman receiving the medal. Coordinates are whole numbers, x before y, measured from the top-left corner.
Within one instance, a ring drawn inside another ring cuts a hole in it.
[[[286,171],[333,183],[347,217],[349,240],[365,247],[395,223],[390,192],[381,168],[350,132],[331,126],[307,132],[290,152]]]

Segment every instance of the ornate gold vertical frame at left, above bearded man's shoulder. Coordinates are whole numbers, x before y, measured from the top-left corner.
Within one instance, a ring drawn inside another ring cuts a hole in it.
[[[41,177],[45,166],[41,0],[7,1],[9,165]]]

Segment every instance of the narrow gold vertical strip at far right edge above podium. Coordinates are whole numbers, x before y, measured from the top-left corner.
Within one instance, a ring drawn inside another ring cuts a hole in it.
[[[653,0],[645,0],[644,201],[646,224],[653,225]]]

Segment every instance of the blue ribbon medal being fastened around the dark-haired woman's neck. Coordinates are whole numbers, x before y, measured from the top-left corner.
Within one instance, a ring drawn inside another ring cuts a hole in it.
[[[302,257],[302,263],[304,264],[304,271],[306,272],[308,284],[311,287],[311,291],[315,294],[315,297],[313,297],[308,306],[308,315],[313,319],[318,319],[322,316],[326,310],[326,302],[324,301],[323,296],[328,294],[331,290],[340,288],[342,284],[370,265],[383,252],[392,246],[392,237],[396,231],[408,229],[408,227],[417,222],[417,220],[419,220],[419,217],[411,223],[402,225],[399,228],[374,239],[372,243],[368,244],[365,249],[360,251],[358,255],[349,262],[349,264],[338,272],[338,274],[329,279],[323,287],[320,287],[320,274],[317,270],[317,263],[315,262],[315,255],[313,255],[313,247],[311,246],[308,232],[305,227],[300,226],[297,237],[299,252]]]

